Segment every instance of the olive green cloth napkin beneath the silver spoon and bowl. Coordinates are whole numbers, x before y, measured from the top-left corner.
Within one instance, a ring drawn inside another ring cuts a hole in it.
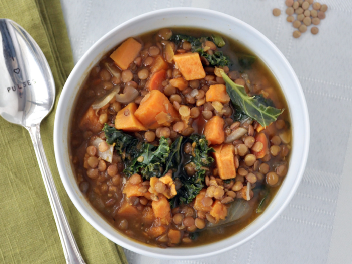
[[[127,263],[121,247],[79,214],[61,183],[53,126],[62,86],[73,68],[60,0],[0,0],[0,17],[24,27],[43,50],[56,84],[53,111],[41,125],[45,153],[58,193],[86,263]],[[60,238],[29,133],[0,118],[0,263],[65,263]]]

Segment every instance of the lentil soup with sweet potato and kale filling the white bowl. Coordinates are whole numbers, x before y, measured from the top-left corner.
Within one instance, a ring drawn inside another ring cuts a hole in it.
[[[129,38],[94,66],[71,122],[87,200],[125,235],[160,247],[233,235],[288,171],[288,107],[237,41],[199,29]]]

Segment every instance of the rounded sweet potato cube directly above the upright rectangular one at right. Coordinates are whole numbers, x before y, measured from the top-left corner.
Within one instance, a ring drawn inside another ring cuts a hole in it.
[[[225,121],[219,116],[213,116],[204,127],[203,134],[210,145],[221,144],[225,140]]]

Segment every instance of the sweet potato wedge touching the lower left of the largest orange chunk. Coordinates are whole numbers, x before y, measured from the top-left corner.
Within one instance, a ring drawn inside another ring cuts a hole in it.
[[[115,118],[115,128],[129,132],[139,132],[147,130],[134,116],[137,110],[136,103],[129,103],[121,109]]]

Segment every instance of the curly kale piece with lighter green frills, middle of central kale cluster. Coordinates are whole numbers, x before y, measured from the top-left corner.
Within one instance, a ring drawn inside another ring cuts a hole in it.
[[[167,140],[161,137],[159,146],[144,143],[139,153],[126,162],[124,173],[128,176],[134,173],[141,173],[143,178],[149,180],[151,177],[161,177],[163,174],[163,164],[166,163],[170,153]]]

